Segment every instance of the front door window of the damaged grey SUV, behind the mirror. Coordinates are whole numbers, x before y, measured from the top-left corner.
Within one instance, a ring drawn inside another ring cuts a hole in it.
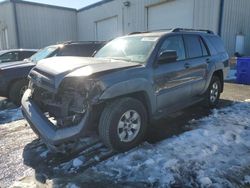
[[[182,36],[172,36],[168,37],[162,44],[159,54],[164,51],[176,51],[177,53],[177,60],[184,60],[185,55],[185,48]]]

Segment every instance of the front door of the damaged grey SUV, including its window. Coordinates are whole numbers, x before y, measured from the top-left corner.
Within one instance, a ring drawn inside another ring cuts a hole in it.
[[[158,64],[154,69],[154,85],[159,110],[183,103],[191,94],[188,69],[185,68],[187,61],[182,35],[167,37],[158,55],[166,50],[175,50],[178,59],[175,62]]]

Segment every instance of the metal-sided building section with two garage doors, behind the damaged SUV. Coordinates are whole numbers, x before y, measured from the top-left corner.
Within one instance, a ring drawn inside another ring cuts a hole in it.
[[[230,55],[236,51],[236,36],[242,34],[244,54],[250,55],[249,10],[249,0],[107,0],[78,11],[78,39],[110,39],[171,27],[202,28],[221,35]],[[114,18],[117,25],[111,31],[108,26],[98,31],[99,23],[114,24]],[[98,36],[101,33],[108,35]]]

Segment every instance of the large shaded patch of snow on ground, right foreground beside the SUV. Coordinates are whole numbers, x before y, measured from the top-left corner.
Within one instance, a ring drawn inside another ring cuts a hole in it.
[[[190,122],[199,128],[155,145],[143,144],[94,167],[117,182],[156,187],[250,185],[250,101]]]

